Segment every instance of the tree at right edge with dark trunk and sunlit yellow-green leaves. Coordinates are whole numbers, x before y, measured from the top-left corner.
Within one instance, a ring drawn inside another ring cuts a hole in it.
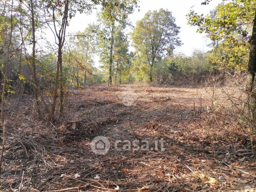
[[[209,0],[203,2],[208,4]],[[248,99],[249,114],[252,114],[252,138],[256,128],[256,1],[231,0],[219,4],[210,15],[198,15],[193,10],[188,16],[188,23],[198,27],[198,32],[206,32],[213,41],[215,53],[219,64],[224,64],[225,69],[245,68],[248,66]],[[252,36],[250,37],[250,34]],[[215,43],[216,42],[216,43]],[[249,53],[249,54],[248,54]],[[247,65],[248,64],[248,65]],[[238,66],[238,67],[237,67]],[[246,103],[247,105],[247,103]],[[251,110],[252,109],[252,110]],[[252,139],[252,140],[253,140]]]

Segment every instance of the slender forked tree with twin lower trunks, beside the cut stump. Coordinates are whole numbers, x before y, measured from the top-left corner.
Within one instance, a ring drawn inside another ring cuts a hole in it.
[[[55,37],[55,43],[58,46],[58,58],[57,58],[57,70],[56,70],[56,84],[54,89],[54,96],[52,101],[51,112],[49,114],[48,120],[52,121],[55,113],[57,97],[58,97],[58,87],[60,87],[60,114],[64,112],[63,106],[63,67],[62,67],[62,47],[65,42],[66,37],[66,27],[70,18],[75,16],[76,12],[79,11],[90,11],[92,7],[99,3],[98,0],[87,1],[77,1],[77,0],[45,0],[45,17],[46,14],[50,15],[50,21],[52,21],[54,29],[50,27],[49,22],[47,22],[48,27],[51,29]],[[46,13],[47,12],[47,13]]]

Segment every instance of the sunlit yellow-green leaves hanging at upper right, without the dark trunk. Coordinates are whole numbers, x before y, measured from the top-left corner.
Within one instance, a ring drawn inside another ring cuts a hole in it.
[[[224,0],[211,14],[191,10],[187,15],[188,24],[197,26],[197,32],[207,33],[213,41],[213,62],[221,69],[246,68],[255,8],[254,0]]]

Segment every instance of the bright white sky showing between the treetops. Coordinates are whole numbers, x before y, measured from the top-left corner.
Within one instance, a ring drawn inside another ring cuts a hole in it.
[[[176,25],[180,27],[180,40],[183,45],[175,48],[175,53],[183,53],[190,56],[194,49],[200,49],[207,51],[210,48],[207,45],[210,43],[204,33],[196,33],[196,27],[187,24],[186,14],[189,13],[192,6],[198,14],[209,14],[210,10],[213,10],[221,0],[214,0],[209,5],[201,5],[203,0],[140,0],[138,8],[133,14],[129,16],[130,21],[135,26],[136,21],[142,19],[145,13],[149,10],[159,10],[160,8],[168,9],[173,12],[173,16],[176,18]],[[97,22],[97,11],[94,10],[90,15],[77,14],[70,21],[67,31],[73,33],[76,31],[83,31],[89,23]],[[99,57],[95,57],[95,66],[99,66]]]

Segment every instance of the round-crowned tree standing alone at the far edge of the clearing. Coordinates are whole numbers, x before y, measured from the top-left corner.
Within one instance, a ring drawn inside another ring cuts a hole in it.
[[[148,75],[151,83],[155,62],[171,54],[175,46],[181,45],[178,38],[179,29],[172,12],[163,9],[149,11],[137,21],[131,33],[133,46],[138,56],[149,65]]]

